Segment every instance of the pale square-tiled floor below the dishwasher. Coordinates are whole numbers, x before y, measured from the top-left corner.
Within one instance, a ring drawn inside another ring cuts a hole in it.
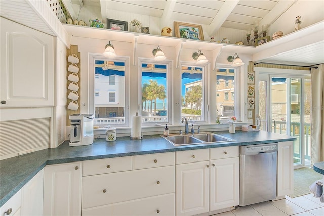
[[[313,194],[237,207],[217,216],[324,216],[324,203]]]

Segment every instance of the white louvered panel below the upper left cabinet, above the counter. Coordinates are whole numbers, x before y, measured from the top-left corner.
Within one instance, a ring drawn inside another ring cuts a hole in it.
[[[37,118],[0,122],[1,159],[50,146],[51,119]]]

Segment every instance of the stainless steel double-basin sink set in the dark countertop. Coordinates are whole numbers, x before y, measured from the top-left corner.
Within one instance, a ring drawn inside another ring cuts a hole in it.
[[[174,146],[223,143],[223,142],[234,141],[233,139],[218,134],[214,134],[214,133],[200,133],[200,134],[187,134],[187,135],[170,134],[167,137],[163,135],[161,136],[166,140],[168,140]]]

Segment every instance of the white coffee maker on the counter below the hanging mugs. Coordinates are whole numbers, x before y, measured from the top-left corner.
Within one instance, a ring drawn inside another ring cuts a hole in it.
[[[69,146],[90,145],[93,143],[93,114],[72,114]]]

